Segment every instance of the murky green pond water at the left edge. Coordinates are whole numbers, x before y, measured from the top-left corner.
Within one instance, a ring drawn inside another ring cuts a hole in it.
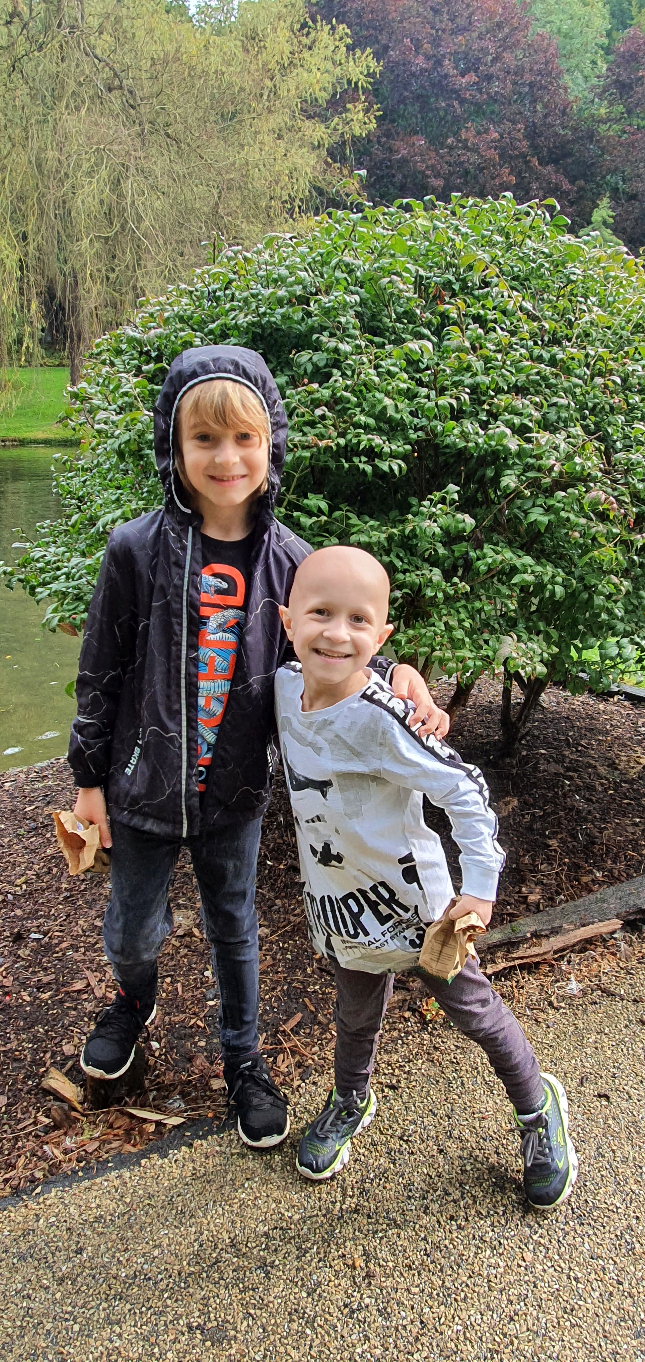
[[[0,558],[20,557],[12,543],[39,520],[56,520],[52,454],[42,445],[0,447]],[[41,625],[46,602],[0,583],[0,771],[67,752],[75,701],[65,685],[76,677],[80,639]]]

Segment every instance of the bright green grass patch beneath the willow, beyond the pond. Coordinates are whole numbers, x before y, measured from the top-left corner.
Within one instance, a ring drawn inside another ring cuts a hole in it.
[[[8,405],[0,398],[0,441],[18,444],[75,444],[56,425],[65,406],[69,369],[5,369],[11,380]]]

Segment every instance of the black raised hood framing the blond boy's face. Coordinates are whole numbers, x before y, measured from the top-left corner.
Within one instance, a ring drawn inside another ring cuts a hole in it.
[[[186,490],[174,464],[177,407],[186,388],[222,377],[253,388],[263,403],[271,429],[268,503],[274,508],[280,490],[280,474],[287,447],[287,417],[274,375],[254,350],[237,345],[205,345],[182,350],[173,360],[155,403],[155,458],[166,504],[191,513]]]

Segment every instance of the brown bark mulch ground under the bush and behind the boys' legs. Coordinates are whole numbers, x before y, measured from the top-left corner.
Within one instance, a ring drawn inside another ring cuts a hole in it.
[[[438,688],[445,703],[448,688]],[[453,727],[461,755],[484,771],[508,850],[494,923],[645,869],[645,707],[625,700],[572,697],[551,689],[514,760],[498,763],[499,685],[480,682]],[[97,1011],[113,983],[101,944],[105,876],[71,878],[54,840],[52,809],[71,808],[64,760],[0,776],[0,1196],[60,1171],[140,1150],[167,1133],[159,1120],[124,1106],[83,1113],[53,1102],[41,1083],[50,1065],[82,1084],[78,1064]],[[448,821],[429,821],[441,835]],[[457,851],[444,836],[450,865]],[[306,940],[299,870],[288,804],[276,785],[260,854],[257,906],[261,937],[261,1031],[274,1075],[286,1091],[329,1071],[333,1047],[331,975]],[[225,1117],[216,989],[200,930],[188,857],[177,868],[176,929],[159,960],[159,1000],[142,1091],[129,1099],[156,1117]],[[640,929],[592,943],[559,962],[495,986],[540,1017],[574,1007],[589,989],[621,996],[645,953]],[[644,1016],[645,1022],[645,1016]],[[446,1024],[416,979],[399,977],[388,1017],[397,1028]],[[121,1099],[120,1099],[121,1100]]]

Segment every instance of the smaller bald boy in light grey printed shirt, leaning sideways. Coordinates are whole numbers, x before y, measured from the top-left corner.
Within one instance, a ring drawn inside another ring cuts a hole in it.
[[[503,851],[476,767],[422,737],[414,704],[395,697],[370,659],[392,633],[389,580],[362,549],[331,546],[299,565],[280,606],[298,658],[276,673],[276,719],[298,838],[310,941],[336,981],[335,1086],[299,1141],[297,1169],[324,1181],[374,1117],[371,1072],[395,971],[418,966],[426,926],[476,911],[489,922]],[[445,809],[460,847],[450,883],[423,795]],[[453,904],[452,907],[449,907]],[[577,1158],[562,1084],[540,1073],[513,1013],[468,957],[448,985],[446,1016],[483,1047],[513,1103],[524,1189],[540,1209],[570,1193]]]

